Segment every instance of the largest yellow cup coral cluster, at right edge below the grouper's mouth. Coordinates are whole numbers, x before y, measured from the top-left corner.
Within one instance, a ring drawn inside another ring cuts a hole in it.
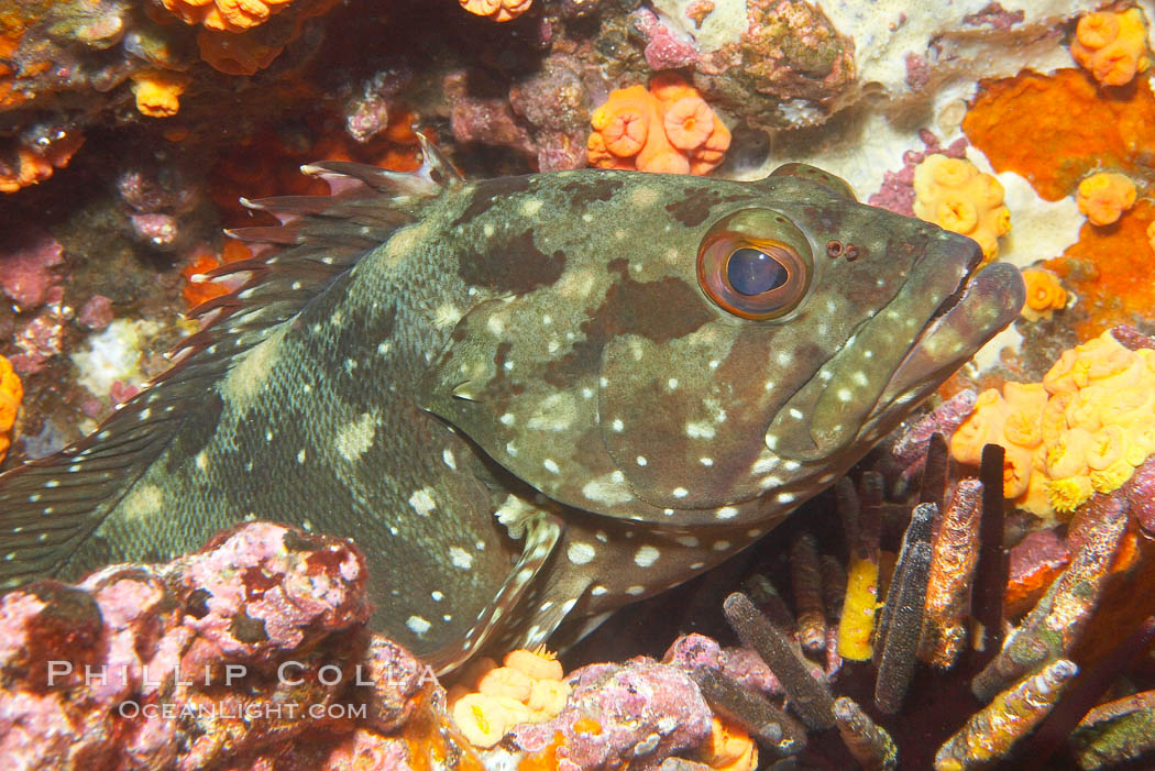
[[[984,391],[951,437],[960,463],[1006,450],[1003,494],[1044,518],[1118,489],[1155,452],[1155,351],[1110,331],[1065,351],[1041,383]]]

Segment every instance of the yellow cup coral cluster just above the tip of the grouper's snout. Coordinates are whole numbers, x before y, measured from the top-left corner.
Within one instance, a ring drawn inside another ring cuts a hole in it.
[[[999,180],[964,158],[934,154],[915,167],[915,215],[975,239],[984,262],[994,259],[999,237],[1011,230],[1004,195]]]

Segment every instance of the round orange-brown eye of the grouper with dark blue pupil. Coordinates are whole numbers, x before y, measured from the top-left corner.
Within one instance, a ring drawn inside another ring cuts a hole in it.
[[[742,319],[777,319],[802,302],[811,278],[810,246],[784,215],[746,209],[715,224],[698,252],[698,283],[720,308]]]

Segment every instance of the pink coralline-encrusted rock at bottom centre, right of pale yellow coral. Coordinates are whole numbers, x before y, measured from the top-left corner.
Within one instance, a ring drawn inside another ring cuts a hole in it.
[[[656,769],[710,734],[710,709],[679,667],[636,657],[576,669],[569,684],[560,714],[516,726],[507,738],[523,753],[552,754],[544,761],[558,771]]]

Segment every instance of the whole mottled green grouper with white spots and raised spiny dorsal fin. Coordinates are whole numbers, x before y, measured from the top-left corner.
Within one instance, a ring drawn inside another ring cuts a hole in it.
[[[348,537],[437,668],[708,570],[1019,313],[968,238],[790,164],[732,182],[305,171],[170,372],[0,476],[0,582],[164,561],[246,519]]]

